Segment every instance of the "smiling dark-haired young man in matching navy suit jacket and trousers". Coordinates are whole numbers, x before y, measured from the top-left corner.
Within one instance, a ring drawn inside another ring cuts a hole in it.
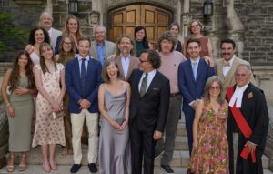
[[[186,118],[189,154],[191,155],[193,133],[192,125],[198,100],[203,97],[204,87],[208,77],[215,74],[204,58],[200,57],[201,46],[197,39],[187,42],[187,53],[190,58],[178,67],[178,87],[183,99],[183,111]]]

